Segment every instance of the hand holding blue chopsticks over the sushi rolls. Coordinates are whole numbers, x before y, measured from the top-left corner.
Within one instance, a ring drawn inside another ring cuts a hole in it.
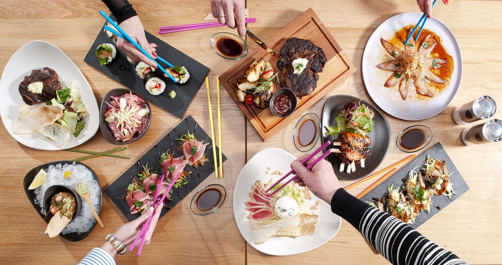
[[[148,43],[145,37],[145,29],[138,16],[134,16],[127,20],[124,20],[118,25],[125,31],[133,40],[135,40],[140,46],[148,53],[152,58],[157,58],[157,45],[155,43]],[[143,61],[146,64],[157,68],[157,63],[150,60],[145,54],[138,50],[133,44],[129,43],[127,40],[122,38],[117,38],[117,47],[123,51],[129,58],[136,61]]]

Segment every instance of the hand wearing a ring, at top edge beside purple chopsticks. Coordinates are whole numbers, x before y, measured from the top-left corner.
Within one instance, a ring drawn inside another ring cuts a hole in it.
[[[220,24],[235,29],[240,37],[246,35],[246,21],[243,0],[209,0],[213,18]]]

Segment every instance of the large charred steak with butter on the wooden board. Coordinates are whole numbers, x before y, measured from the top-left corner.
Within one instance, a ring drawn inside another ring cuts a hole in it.
[[[281,85],[289,87],[297,97],[310,95],[317,86],[319,79],[317,73],[322,72],[327,62],[322,49],[309,40],[293,37],[286,40],[279,53],[287,61],[277,63],[277,67],[281,70]],[[305,58],[309,62],[302,73],[294,74],[291,63],[298,58]]]

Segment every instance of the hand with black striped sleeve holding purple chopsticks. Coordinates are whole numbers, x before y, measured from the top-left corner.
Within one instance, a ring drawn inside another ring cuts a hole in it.
[[[330,162],[322,159],[308,170],[305,165],[302,164],[302,160],[307,158],[307,156],[308,155],[304,155],[291,163],[291,168],[293,168],[299,176],[294,182],[302,187],[307,186],[315,196],[331,204],[331,198],[333,198],[335,192],[341,188],[338,178],[333,171],[333,167]],[[307,161],[306,164],[314,160],[315,158],[312,158]]]

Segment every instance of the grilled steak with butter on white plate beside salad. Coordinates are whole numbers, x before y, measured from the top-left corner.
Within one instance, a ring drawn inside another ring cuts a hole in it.
[[[28,85],[34,82],[42,82],[43,89],[41,94],[35,94],[28,90]],[[56,91],[61,89],[59,76],[53,69],[44,67],[35,69],[30,75],[19,84],[19,94],[23,101],[28,105],[34,105],[39,102],[45,102],[56,97]]]

